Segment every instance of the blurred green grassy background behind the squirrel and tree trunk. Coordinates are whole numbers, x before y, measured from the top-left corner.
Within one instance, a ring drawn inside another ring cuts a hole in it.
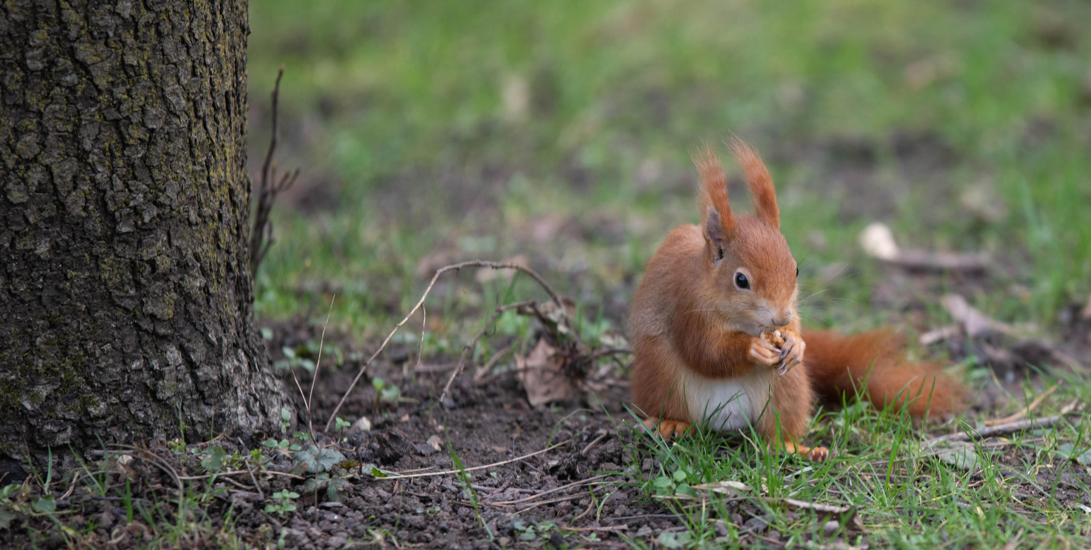
[[[1091,286],[1088,22],[1080,1],[253,0],[251,170],[280,63],[279,165],[302,169],[257,313],[324,318],[336,292],[331,323],[371,337],[436,267],[517,258],[621,328],[698,219],[690,152],[734,132],[777,181],[812,324],[927,325],[958,288],[1047,325]],[[874,220],[996,268],[891,278],[856,244]],[[430,328],[476,330],[508,292],[541,295],[464,273]]]

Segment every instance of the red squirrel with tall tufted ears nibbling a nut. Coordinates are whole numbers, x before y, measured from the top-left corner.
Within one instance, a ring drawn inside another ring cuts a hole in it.
[[[802,330],[799,266],[780,232],[772,178],[750,145],[728,145],[754,215],[732,214],[723,168],[706,146],[694,155],[700,225],[668,235],[633,302],[633,402],[645,425],[666,438],[695,423],[753,425],[766,444],[825,461],[827,449],[802,445],[816,397],[840,400],[860,387],[879,408],[906,399],[916,416],[958,408],[961,385],[936,363],[906,361],[892,332]]]

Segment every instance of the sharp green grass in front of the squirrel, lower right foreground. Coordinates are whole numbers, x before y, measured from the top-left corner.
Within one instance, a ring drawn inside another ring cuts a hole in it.
[[[1036,414],[1046,416],[1074,398],[1086,399],[1087,382],[1075,382],[1079,384]],[[1034,396],[1028,388],[1028,402]],[[1012,408],[1027,403],[1014,397]],[[643,435],[644,442],[634,449],[647,454],[632,454],[631,466],[639,471],[639,457],[652,456],[654,469],[634,481],[649,498],[658,493],[682,499],[667,502],[688,519],[685,547],[757,543],[753,536],[746,538],[747,529],[739,522],[768,515],[769,529],[778,531],[782,543],[796,548],[805,548],[807,540],[832,543],[838,537],[872,548],[1002,548],[1006,543],[1012,543],[1009,548],[1077,548],[1087,545],[1091,514],[1083,510],[1089,493],[1080,479],[1086,468],[1069,456],[1091,446],[1087,419],[1084,412],[1052,428],[987,440],[988,445],[979,442],[970,449],[975,465],[967,467],[963,462],[959,467],[937,454],[950,447],[923,447],[924,432],[919,422],[907,420],[903,410],[877,411],[858,403],[815,419],[810,441],[837,451],[825,463],[759,451],[753,445],[756,434],[741,440],[699,430],[671,443]],[[933,421],[925,431],[968,431],[974,423],[973,419],[947,425]],[[727,497],[690,489],[712,481],[739,481],[753,491]],[[823,525],[839,519],[837,515],[792,510],[778,502],[783,498],[851,506],[863,531],[846,531],[841,521],[836,531],[826,534]],[[745,504],[735,509],[740,500]]]

